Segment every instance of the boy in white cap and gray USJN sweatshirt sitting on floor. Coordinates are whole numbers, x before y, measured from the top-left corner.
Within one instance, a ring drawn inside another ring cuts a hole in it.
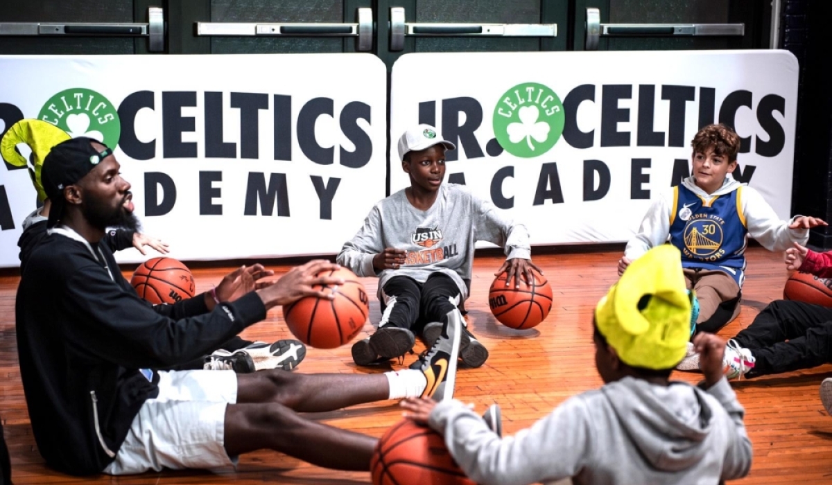
[[[471,283],[474,243],[486,240],[505,249],[508,260],[497,275],[506,285],[531,280],[531,248],[524,225],[514,224],[468,187],[443,184],[445,152],[456,150],[436,128],[418,125],[399,138],[402,170],[410,186],[374,205],[364,225],[344,244],[338,264],[359,276],[379,277],[384,314],[379,329],[353,345],[355,364],[403,356],[421,331],[433,346],[448,312],[458,312]],[[463,329],[460,358],[469,367],[488,359],[488,349]],[[414,363],[414,365],[419,365]]]

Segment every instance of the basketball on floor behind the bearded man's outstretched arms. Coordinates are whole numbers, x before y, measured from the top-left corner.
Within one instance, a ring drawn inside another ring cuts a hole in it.
[[[194,275],[173,258],[146,260],[133,272],[130,285],[152,304],[172,304],[194,295]]]

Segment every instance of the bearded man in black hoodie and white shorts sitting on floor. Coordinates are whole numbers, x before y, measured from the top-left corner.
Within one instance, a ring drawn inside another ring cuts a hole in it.
[[[146,303],[121,276],[109,246],[100,244],[107,227],[135,227],[130,184],[119,168],[111,150],[89,138],[62,142],[43,164],[50,233],[23,270],[16,317],[23,389],[47,464],[76,475],[119,475],[215,468],[235,463],[240,453],[271,448],[324,467],[368,470],[374,438],[295,411],[427,394],[428,371],[150,370],[205,354],[279,304],[331,298],[314,285],[342,281],[317,277],[338,266],[314,260],[231,303],[209,294]],[[433,354],[453,369],[455,355]]]

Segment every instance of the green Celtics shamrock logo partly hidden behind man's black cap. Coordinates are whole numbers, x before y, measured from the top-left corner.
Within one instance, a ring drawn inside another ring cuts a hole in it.
[[[57,93],[43,105],[37,118],[66,131],[69,136],[88,136],[116,148],[121,120],[116,106],[100,93],[75,87]]]

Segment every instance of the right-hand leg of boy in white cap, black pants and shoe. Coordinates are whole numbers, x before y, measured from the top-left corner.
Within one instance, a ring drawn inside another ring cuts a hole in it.
[[[428,347],[433,345],[438,337],[438,331],[441,331],[441,326],[431,324],[431,322],[441,322],[447,324],[448,312],[457,310],[459,304],[462,303],[462,294],[456,283],[442,273],[435,273],[430,275],[422,287],[422,317],[421,319],[426,324],[423,339]],[[465,320],[463,319],[463,324]],[[485,364],[488,359],[488,349],[485,348],[477,339],[474,338],[467,324],[463,329],[463,339],[461,340],[459,357],[463,359],[463,364],[468,367],[480,367]]]

